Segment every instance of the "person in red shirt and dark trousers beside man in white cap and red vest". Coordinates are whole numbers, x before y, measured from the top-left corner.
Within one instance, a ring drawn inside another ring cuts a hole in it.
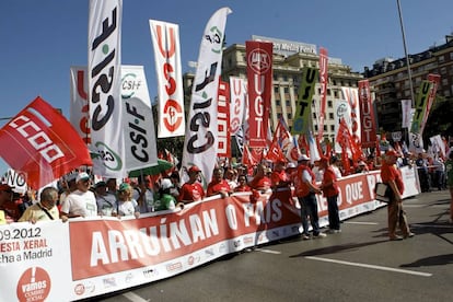
[[[321,189],[323,195],[327,198],[327,211],[328,211],[328,228],[329,233],[339,233],[340,220],[338,212],[338,185],[337,176],[335,175],[334,169],[329,164],[328,158],[321,158],[320,169],[324,171],[323,181],[321,183]]]

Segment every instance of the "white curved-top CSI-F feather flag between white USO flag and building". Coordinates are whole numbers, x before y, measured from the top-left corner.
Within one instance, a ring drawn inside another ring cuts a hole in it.
[[[229,8],[218,10],[205,27],[184,141],[183,166],[197,165],[207,182],[211,181],[217,160],[217,95],[226,15],[230,12]]]

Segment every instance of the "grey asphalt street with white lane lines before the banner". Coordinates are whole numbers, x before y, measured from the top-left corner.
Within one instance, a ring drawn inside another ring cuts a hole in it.
[[[388,241],[381,208],[344,221],[339,234],[283,240],[96,300],[452,301],[449,207],[448,190],[405,199],[411,239]]]

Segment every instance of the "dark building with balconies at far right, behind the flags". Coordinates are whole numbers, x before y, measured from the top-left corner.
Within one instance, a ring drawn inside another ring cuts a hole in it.
[[[440,74],[437,102],[453,102],[453,36],[445,37],[445,44],[408,55],[411,85],[406,58],[378,60],[372,69],[364,68],[363,76],[373,88],[381,130],[403,131],[400,100],[417,97],[420,84],[429,73]],[[413,107],[415,106],[413,100]]]

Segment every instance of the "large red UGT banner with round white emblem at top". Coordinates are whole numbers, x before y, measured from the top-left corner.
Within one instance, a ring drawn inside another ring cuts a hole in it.
[[[249,147],[267,147],[270,96],[272,92],[272,43],[247,40]]]

